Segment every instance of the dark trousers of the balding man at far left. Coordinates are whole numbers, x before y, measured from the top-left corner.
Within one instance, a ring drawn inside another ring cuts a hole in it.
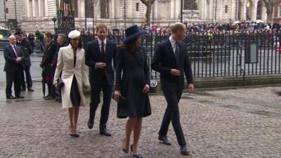
[[[6,72],[6,98],[12,95],[12,86],[15,90],[15,96],[20,96],[20,84],[22,69],[13,72]]]

